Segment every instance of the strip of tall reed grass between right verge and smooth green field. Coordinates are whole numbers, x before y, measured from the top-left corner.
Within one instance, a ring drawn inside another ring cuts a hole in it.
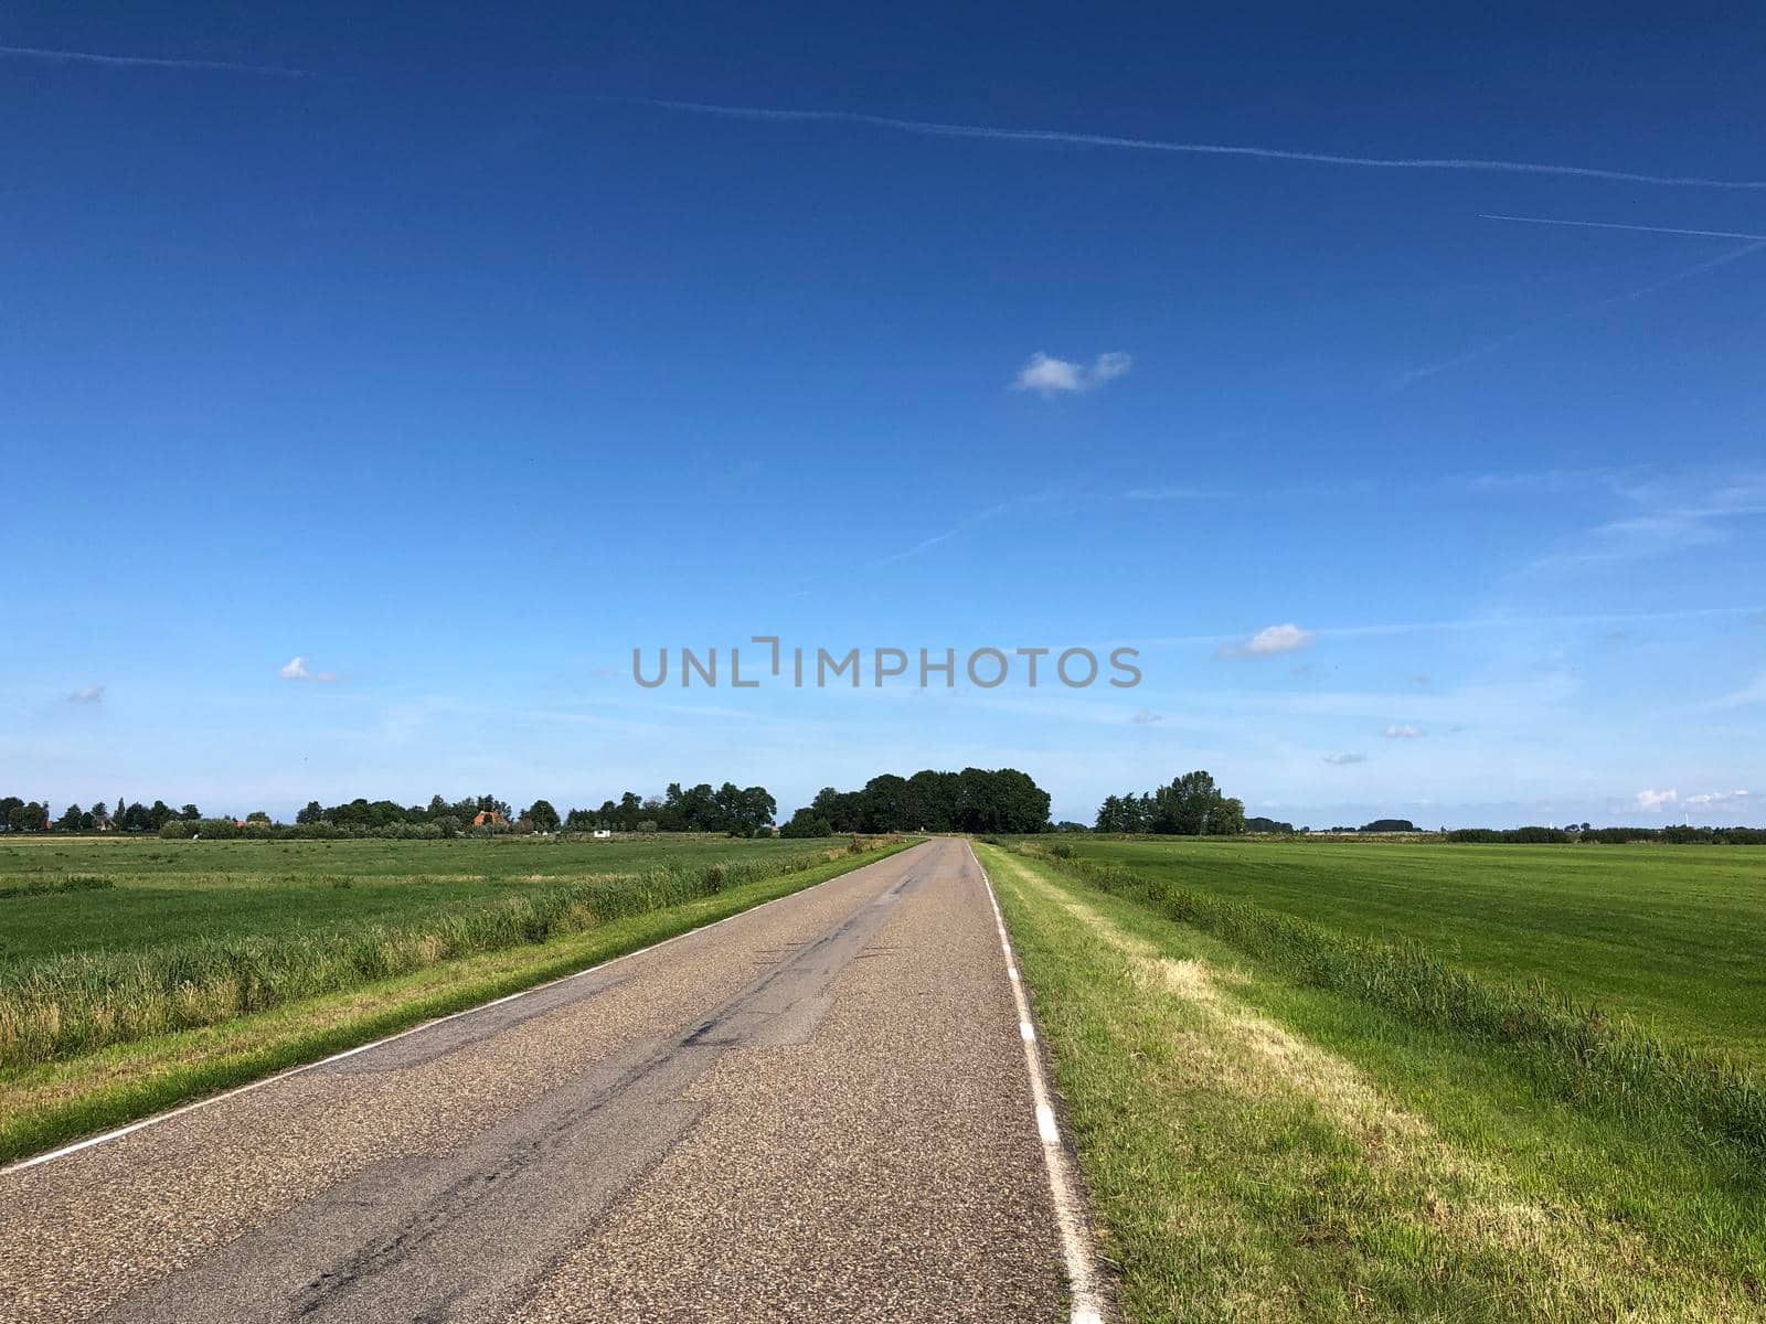
[[[1418,1026],[1492,1045],[1551,1093],[1722,1146],[1755,1177],[1766,1162],[1766,1087],[1729,1057],[1672,1043],[1540,983],[1480,978],[1420,943],[1355,937],[1254,902],[1211,897],[1130,869],[1061,858],[1053,869],[1201,929],[1296,982],[1355,997]]]

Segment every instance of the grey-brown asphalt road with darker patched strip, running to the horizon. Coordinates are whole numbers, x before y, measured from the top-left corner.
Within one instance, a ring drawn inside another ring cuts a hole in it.
[[[917,846],[0,1174],[0,1320],[1060,1319],[1014,999]]]

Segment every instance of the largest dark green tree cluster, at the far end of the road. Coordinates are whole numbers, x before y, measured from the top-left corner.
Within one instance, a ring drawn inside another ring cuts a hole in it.
[[[883,773],[862,791],[816,793],[781,837],[841,831],[1047,831],[1049,793],[1017,768]]]

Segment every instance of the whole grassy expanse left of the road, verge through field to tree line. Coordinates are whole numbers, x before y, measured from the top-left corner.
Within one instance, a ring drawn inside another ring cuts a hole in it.
[[[894,849],[9,844],[0,884],[19,891],[0,900],[0,1162],[570,974]],[[108,886],[46,886],[69,877]]]

